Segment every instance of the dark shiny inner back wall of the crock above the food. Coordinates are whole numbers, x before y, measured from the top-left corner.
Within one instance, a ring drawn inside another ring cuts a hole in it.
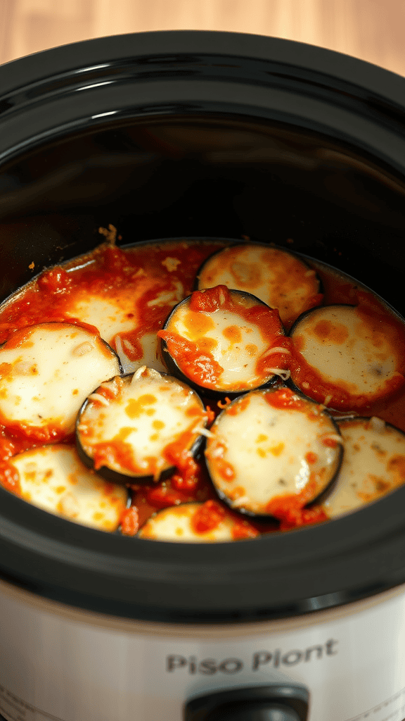
[[[2,168],[0,293],[90,249],[99,226],[113,224],[127,244],[276,242],[342,268],[401,309],[405,188],[378,173],[324,138],[235,116],[137,119],[51,142]]]

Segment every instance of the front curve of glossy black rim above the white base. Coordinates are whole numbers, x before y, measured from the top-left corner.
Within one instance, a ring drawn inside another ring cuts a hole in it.
[[[6,507],[0,577],[92,611],[179,622],[275,619],[340,606],[405,581],[405,522],[399,510],[405,487],[324,524],[247,542],[201,545],[111,536],[0,491]],[[280,558],[278,566],[272,565],[270,554]],[[299,588],[293,593],[289,574]],[[347,575],[351,583],[342,588]],[[290,588],[269,602],[277,583]],[[311,595],[314,585],[318,593]],[[144,597],[139,601],[141,589],[147,590],[147,604]],[[164,598],[164,591],[171,598]]]

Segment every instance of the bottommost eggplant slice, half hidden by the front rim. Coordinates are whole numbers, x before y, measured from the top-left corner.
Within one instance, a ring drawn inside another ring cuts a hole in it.
[[[259,533],[215,501],[182,503],[154,513],[143,524],[138,538],[155,541],[213,543],[252,538]]]

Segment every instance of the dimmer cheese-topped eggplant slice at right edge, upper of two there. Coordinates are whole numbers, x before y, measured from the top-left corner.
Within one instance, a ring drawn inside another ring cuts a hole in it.
[[[387,320],[388,322],[388,320]],[[290,330],[291,381],[306,396],[338,411],[360,411],[404,383],[403,340],[357,306],[304,314]]]

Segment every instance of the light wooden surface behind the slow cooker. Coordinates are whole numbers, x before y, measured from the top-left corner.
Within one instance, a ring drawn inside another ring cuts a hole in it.
[[[405,76],[405,0],[0,0],[0,63],[89,37],[184,29],[287,37]]]

